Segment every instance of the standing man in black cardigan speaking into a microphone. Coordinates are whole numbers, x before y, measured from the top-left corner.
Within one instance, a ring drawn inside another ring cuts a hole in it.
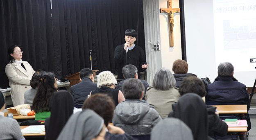
[[[119,45],[115,49],[115,61],[118,63],[118,79],[124,79],[122,68],[125,65],[135,65],[138,69],[138,79],[140,79],[140,69],[146,70],[148,64],[142,48],[134,44],[138,33],[134,29],[125,31],[125,44]]]

